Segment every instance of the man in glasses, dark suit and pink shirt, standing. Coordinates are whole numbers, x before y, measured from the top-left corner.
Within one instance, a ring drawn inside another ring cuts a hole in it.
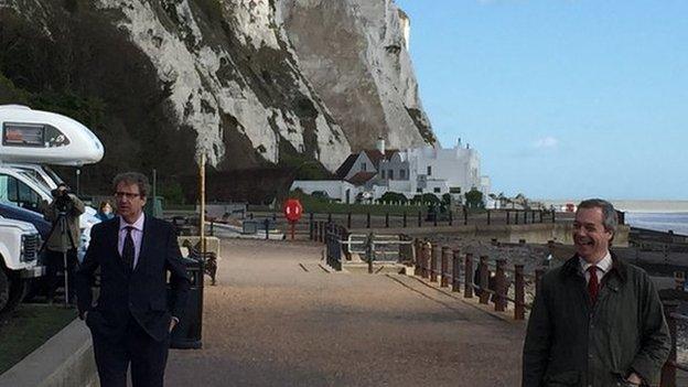
[[[79,316],[90,329],[101,387],[162,386],[170,332],[190,287],[171,224],[142,212],[148,179],[135,172],[112,181],[117,217],[97,224],[76,276]],[[100,293],[93,303],[94,272]],[[170,271],[172,292],[166,293]]]

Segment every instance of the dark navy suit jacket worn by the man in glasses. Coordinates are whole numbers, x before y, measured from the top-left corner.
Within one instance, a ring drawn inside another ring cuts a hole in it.
[[[191,281],[180,255],[171,224],[146,216],[139,260],[133,270],[117,248],[119,217],[95,225],[90,245],[76,273],[79,315],[88,311],[86,324],[94,334],[122,338],[129,319],[157,341],[163,341],[172,315],[181,318]],[[100,268],[100,294],[93,305],[94,272]],[[166,272],[170,271],[170,300]]]

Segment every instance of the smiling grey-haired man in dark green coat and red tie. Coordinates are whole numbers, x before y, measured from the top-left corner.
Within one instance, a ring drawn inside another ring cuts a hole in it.
[[[576,256],[548,271],[536,294],[523,354],[523,387],[654,386],[671,338],[647,273],[609,247],[616,211],[579,204]]]

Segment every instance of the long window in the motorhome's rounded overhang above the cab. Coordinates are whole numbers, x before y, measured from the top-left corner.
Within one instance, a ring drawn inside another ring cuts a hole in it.
[[[55,148],[68,143],[69,139],[50,125],[6,122],[2,127],[6,147]]]

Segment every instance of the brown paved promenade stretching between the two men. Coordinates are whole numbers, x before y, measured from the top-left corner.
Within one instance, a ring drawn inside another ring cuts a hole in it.
[[[166,386],[518,386],[524,325],[413,278],[327,273],[322,246],[223,241],[204,348]]]

